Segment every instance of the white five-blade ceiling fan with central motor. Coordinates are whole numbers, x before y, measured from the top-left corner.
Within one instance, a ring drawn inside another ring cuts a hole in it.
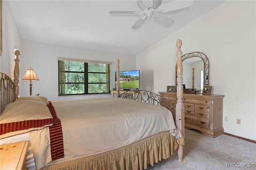
[[[158,13],[170,12],[174,10],[179,10],[182,8],[186,8],[192,6],[193,0],[174,0],[165,4],[162,4],[162,0],[153,0],[152,5],[146,4],[144,5],[142,0],[137,0],[137,4],[140,11],[110,11],[110,14],[144,14],[145,16],[138,19],[137,22],[132,26],[133,29],[138,29],[142,24],[146,21],[146,19],[150,20],[150,17],[154,15],[154,19],[156,22],[160,24],[164,24],[165,26],[170,26],[174,23],[174,20],[171,18],[164,16]]]

